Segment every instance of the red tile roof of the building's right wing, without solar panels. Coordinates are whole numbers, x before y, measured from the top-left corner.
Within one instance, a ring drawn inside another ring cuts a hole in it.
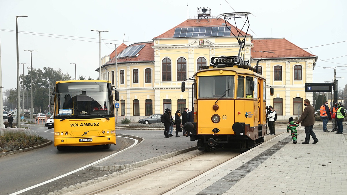
[[[251,58],[293,58],[293,57],[316,57],[308,53],[285,38],[278,39],[253,39]],[[260,52],[260,51],[271,51]]]

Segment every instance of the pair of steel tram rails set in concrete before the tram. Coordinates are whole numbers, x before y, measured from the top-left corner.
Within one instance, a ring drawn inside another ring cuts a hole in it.
[[[183,162],[188,161],[188,160],[192,160],[192,159],[197,158],[197,157],[202,156],[202,155],[206,155],[206,154],[207,154],[207,155],[208,155],[208,154],[213,155],[213,153],[212,153],[213,151],[218,151],[218,148],[214,148],[214,149],[212,149],[210,152],[201,152],[201,153],[199,153],[199,154],[195,154],[195,155],[192,155],[192,156],[188,156],[187,158],[184,158],[184,159],[181,159],[181,160],[177,160],[177,161],[172,162],[172,163],[170,163],[170,164],[166,164],[166,165],[164,165],[164,166],[155,168],[155,169],[153,169],[153,170],[147,171],[147,172],[145,172],[145,173],[139,174],[139,175],[134,176],[134,177],[131,177],[131,178],[129,178],[129,179],[126,179],[126,180],[123,180],[123,181],[119,181],[119,182],[117,182],[117,183],[115,183],[115,184],[108,185],[108,186],[102,187],[102,188],[100,188],[100,189],[93,190],[92,192],[86,193],[86,195],[93,195],[93,194],[99,194],[99,193],[101,193],[101,192],[105,192],[105,191],[110,190],[110,189],[112,189],[112,188],[115,188],[115,187],[118,187],[118,186],[127,184],[127,183],[129,183],[129,182],[131,182],[131,181],[135,181],[135,180],[137,180],[137,179],[139,179],[139,178],[142,178],[142,177],[145,177],[145,176],[149,176],[149,175],[151,175],[151,174],[153,174],[153,173],[156,173],[156,172],[158,172],[158,171],[161,171],[161,170],[163,170],[163,169],[167,169],[167,168],[170,168],[170,167],[173,167],[173,166],[177,166],[177,165],[180,164],[180,163],[183,163]],[[235,158],[235,157],[238,156],[239,154],[241,154],[241,152],[234,152],[234,153],[232,153],[232,155],[230,156],[230,158],[224,159],[224,160],[222,160],[222,161],[220,161],[220,162],[214,164],[213,166],[209,167],[208,169],[206,169],[206,170],[204,170],[204,171],[201,171],[201,172],[199,172],[198,174],[195,174],[195,175],[192,176],[192,177],[189,176],[188,178],[185,178],[183,181],[179,182],[178,184],[175,184],[175,185],[172,186],[172,187],[170,186],[169,189],[164,189],[164,190],[163,190],[162,192],[160,192],[159,194],[165,194],[165,193],[169,192],[170,190],[176,188],[177,186],[180,186],[180,185],[186,183],[187,181],[189,181],[189,180],[191,180],[191,179],[193,179],[193,178],[195,178],[195,177],[198,177],[198,176],[201,175],[203,172],[209,171],[209,170],[211,170],[211,169],[213,169],[213,168],[219,166],[220,164],[225,163],[226,161],[228,161],[228,160],[230,160],[230,159],[232,159],[232,158]],[[213,156],[209,156],[209,157],[213,158]]]

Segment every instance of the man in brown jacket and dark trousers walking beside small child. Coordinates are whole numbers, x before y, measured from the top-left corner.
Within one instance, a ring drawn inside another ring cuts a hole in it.
[[[304,100],[304,105],[305,105],[305,109],[301,115],[301,117],[298,120],[301,123],[302,127],[305,127],[305,134],[306,134],[306,138],[305,138],[305,142],[303,142],[302,144],[310,144],[310,135],[312,136],[313,139],[313,144],[316,144],[318,141],[316,134],[314,134],[313,132],[313,125],[314,125],[314,108],[313,106],[310,104],[310,100]]]

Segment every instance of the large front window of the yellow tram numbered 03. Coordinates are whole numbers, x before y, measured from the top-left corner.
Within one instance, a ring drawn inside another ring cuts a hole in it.
[[[200,76],[198,82],[199,98],[234,97],[234,76]]]

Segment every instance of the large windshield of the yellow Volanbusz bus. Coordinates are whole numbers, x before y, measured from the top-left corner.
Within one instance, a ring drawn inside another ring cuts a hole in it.
[[[56,119],[114,117],[110,83],[58,83],[55,98]]]

